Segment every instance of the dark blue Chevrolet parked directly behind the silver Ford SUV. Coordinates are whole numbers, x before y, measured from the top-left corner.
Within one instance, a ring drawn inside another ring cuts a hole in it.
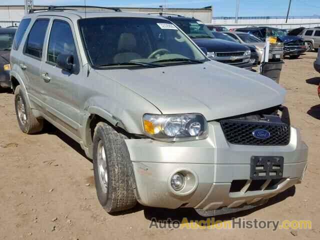
[[[198,19],[176,15],[162,16],[181,28],[210,59],[245,69],[252,68],[249,47],[216,38]]]

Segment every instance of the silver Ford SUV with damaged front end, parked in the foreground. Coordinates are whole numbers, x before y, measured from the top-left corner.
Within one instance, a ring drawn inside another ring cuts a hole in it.
[[[17,121],[35,133],[45,119],[81,145],[107,212],[138,201],[217,215],[300,183],[307,146],[281,86],[208,59],[162,17],[57,9],[15,35]]]

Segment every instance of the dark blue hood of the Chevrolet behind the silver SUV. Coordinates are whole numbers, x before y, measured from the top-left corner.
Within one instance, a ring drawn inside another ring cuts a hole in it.
[[[246,51],[248,48],[240,43],[216,38],[192,38],[199,47],[205,47],[208,52]]]

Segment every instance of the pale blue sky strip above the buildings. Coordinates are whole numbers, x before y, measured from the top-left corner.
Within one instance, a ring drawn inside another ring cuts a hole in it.
[[[22,5],[24,0],[0,0]],[[35,5],[84,5],[84,0],[33,0]],[[234,16],[236,0],[86,0],[87,5],[200,8],[213,5],[213,16]],[[240,0],[239,16],[284,16],[289,0]],[[290,16],[320,15],[320,0],[292,0]]]

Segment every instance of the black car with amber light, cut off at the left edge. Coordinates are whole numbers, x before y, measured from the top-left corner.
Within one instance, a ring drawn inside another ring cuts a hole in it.
[[[0,28],[0,87],[11,87],[10,50],[16,28]]]

